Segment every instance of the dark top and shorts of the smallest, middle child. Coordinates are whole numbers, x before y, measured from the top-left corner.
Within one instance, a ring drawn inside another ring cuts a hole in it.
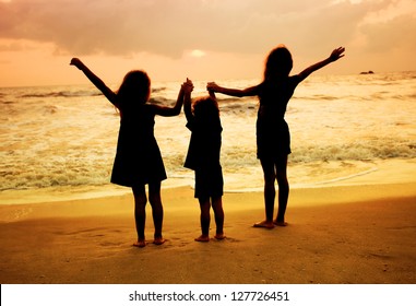
[[[223,170],[219,163],[221,126],[215,121],[204,122],[195,117],[188,119],[187,128],[192,132],[185,167],[195,172],[195,198],[221,197],[224,193]]]

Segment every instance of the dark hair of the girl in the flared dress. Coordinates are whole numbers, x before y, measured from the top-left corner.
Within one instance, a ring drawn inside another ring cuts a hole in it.
[[[133,103],[144,104],[151,92],[151,79],[142,70],[128,72],[117,92],[118,107],[128,107]]]

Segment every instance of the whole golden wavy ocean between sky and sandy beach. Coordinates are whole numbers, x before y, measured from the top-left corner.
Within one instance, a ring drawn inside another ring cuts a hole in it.
[[[217,81],[239,89],[259,82]],[[152,102],[173,105],[180,83],[153,82]],[[194,82],[192,96],[205,95],[205,84]],[[217,98],[225,190],[262,190],[258,99]],[[109,184],[120,119],[94,86],[2,87],[0,106],[0,202],[11,191],[44,190],[57,198],[130,192]],[[285,118],[292,188],[348,180],[377,170],[380,160],[415,158],[416,71],[311,75],[297,87]],[[168,174],[163,188],[193,186],[193,173],[183,167],[190,137],[183,113],[156,117],[155,136]]]

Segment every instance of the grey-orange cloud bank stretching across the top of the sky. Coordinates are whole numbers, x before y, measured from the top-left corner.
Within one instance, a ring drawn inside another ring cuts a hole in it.
[[[382,46],[388,34],[414,28],[415,16],[366,24],[368,15],[412,1],[342,0],[49,0],[0,2],[0,38],[52,43],[71,55],[138,52],[179,58],[186,50],[264,54],[285,43],[321,55],[347,45],[358,34],[368,49]],[[414,5],[414,4],[413,4]],[[408,11],[407,11],[408,12]],[[413,32],[415,33],[415,32]]]

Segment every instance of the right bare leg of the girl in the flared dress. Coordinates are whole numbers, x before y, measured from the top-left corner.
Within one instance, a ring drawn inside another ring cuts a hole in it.
[[[153,224],[155,226],[153,243],[162,245],[165,239],[162,235],[164,210],[161,198],[161,181],[148,184],[148,201],[152,205]]]

